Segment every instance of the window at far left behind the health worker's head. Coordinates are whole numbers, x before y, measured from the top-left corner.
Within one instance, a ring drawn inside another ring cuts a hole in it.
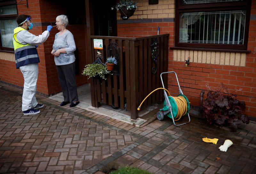
[[[0,50],[13,51],[13,29],[17,27],[17,6],[14,1],[0,3]]]

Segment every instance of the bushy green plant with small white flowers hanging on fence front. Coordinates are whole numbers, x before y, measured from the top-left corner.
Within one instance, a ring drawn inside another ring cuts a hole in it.
[[[100,78],[106,80],[105,75],[107,74],[110,74],[110,71],[108,71],[107,66],[97,63],[85,65],[85,68],[82,72],[82,75],[87,75],[88,79],[91,77],[100,76]]]

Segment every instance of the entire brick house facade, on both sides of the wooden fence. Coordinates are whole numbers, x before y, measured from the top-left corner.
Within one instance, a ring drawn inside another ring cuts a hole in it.
[[[85,1],[86,2],[86,1]],[[76,8],[77,16],[81,17],[78,23],[68,26],[73,33],[78,48],[79,73],[76,75],[77,85],[88,83],[87,78],[81,75],[82,68],[87,64],[88,42],[85,18],[85,4]],[[69,4],[70,5],[70,4]],[[78,9],[77,9],[78,8]],[[42,33],[47,25],[55,25],[57,15],[66,14],[72,6],[64,5],[61,1],[52,3],[43,0],[28,0],[28,8],[24,4],[17,4],[18,14],[32,16],[36,27],[33,34]],[[206,89],[206,83],[211,87],[218,87],[224,83],[231,92],[242,88],[238,92],[238,99],[245,101],[246,114],[256,117],[256,0],[251,2],[248,44],[246,51],[222,51],[185,49],[175,47],[175,1],[159,0],[158,4],[149,5],[148,0],[139,0],[138,9],[128,20],[121,20],[117,11],[117,36],[149,36],[169,33],[168,71],[175,71],[178,75],[183,93],[194,106],[200,106],[200,92]],[[75,18],[74,18],[75,19]],[[70,19],[69,19],[70,20]],[[52,95],[60,92],[60,85],[56,67],[51,55],[52,44],[56,29],[52,29],[48,40],[39,46],[40,56],[39,78],[37,91],[42,95]],[[190,57],[190,65],[185,66],[185,59]],[[0,51],[0,81],[23,86],[23,77],[19,69],[15,69],[12,52]],[[175,79],[168,77],[168,90],[177,93],[173,85]],[[205,98],[206,94],[204,94]]]

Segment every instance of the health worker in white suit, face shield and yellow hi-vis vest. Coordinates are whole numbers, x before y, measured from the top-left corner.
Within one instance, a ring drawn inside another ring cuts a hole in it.
[[[40,113],[39,108],[44,107],[44,104],[38,104],[36,101],[38,62],[40,62],[36,47],[46,41],[52,26],[47,26],[47,30],[42,35],[35,36],[29,32],[33,28],[30,16],[22,14],[16,20],[18,27],[14,29],[13,45],[16,68],[20,68],[24,77],[22,111],[24,115],[34,115]]]

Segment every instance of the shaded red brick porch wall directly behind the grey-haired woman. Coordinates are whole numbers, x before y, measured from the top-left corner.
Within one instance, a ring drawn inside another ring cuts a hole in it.
[[[66,14],[68,10],[68,6],[65,6],[60,3],[52,3],[52,1],[41,1],[40,2],[40,12],[42,22],[55,22],[56,17],[61,14]],[[74,9],[75,10],[75,9]],[[75,12],[75,11],[74,11]],[[85,12],[84,12],[84,20],[85,20]],[[72,22],[72,21],[69,21]],[[55,23],[52,23],[55,25]],[[46,28],[44,26],[43,28]],[[83,25],[69,25],[67,29],[74,35],[76,48],[78,49],[78,61],[79,61],[79,74],[76,75],[76,83],[77,86],[81,86],[83,84],[88,83],[87,77],[81,75],[84,66],[86,65],[86,26],[85,21]],[[48,93],[54,94],[56,92],[60,92],[60,83],[58,80],[58,74],[56,70],[56,66],[54,63],[54,58],[51,54],[52,44],[54,42],[55,34],[58,33],[59,30],[53,28],[49,38],[44,43],[44,56],[45,56],[45,67],[47,71],[47,84],[48,84]]]

